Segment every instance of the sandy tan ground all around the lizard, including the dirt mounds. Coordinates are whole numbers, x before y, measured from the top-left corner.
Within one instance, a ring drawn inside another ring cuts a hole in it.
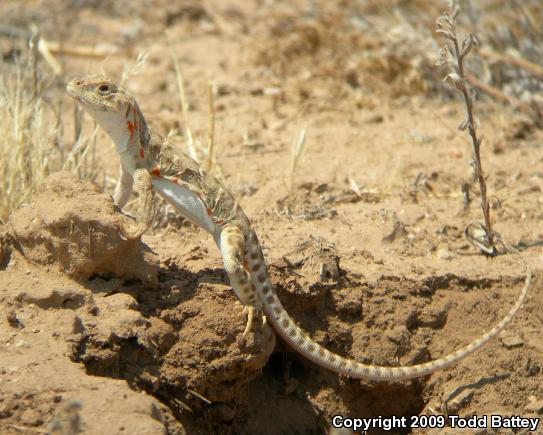
[[[214,170],[250,216],[294,319],[360,361],[436,359],[494,326],[524,280],[515,257],[487,258],[463,236],[481,212],[476,185],[467,207],[460,191],[471,180],[470,143],[456,128],[464,108],[431,66],[441,4],[423,7],[415,20],[423,30],[409,33],[420,2],[321,3],[5,1],[0,15],[39,23],[66,49],[117,47],[106,59],[58,55],[65,78],[101,70],[119,78],[148,50],[126,87],[165,134],[185,128],[167,29],[202,143],[215,84]],[[7,58],[11,42],[2,44]],[[51,92],[65,100],[69,129],[73,103],[62,87],[59,79]],[[111,183],[104,193],[58,173],[0,231],[0,432],[313,434],[330,433],[337,414],[539,418],[543,134],[489,99],[476,110],[489,194],[499,198],[495,228],[534,271],[528,302],[484,349],[387,384],[321,369],[261,325],[242,343],[245,317],[207,234],[181,221],[125,241],[117,226],[128,218],[107,195]],[[291,190],[291,145],[302,129]],[[97,155],[115,177],[102,132]],[[387,433],[513,432],[528,433]]]

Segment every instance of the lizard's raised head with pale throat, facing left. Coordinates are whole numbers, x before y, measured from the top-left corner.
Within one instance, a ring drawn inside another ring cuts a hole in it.
[[[119,151],[126,149],[130,139],[146,134],[136,101],[112,80],[101,75],[74,78],[66,90],[111,136]]]

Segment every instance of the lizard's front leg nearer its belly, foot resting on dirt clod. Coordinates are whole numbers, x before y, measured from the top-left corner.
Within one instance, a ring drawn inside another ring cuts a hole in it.
[[[133,175],[134,189],[138,194],[136,222],[133,227],[122,226],[121,234],[128,240],[140,238],[151,226],[153,221],[153,184],[151,174],[147,169],[136,169]],[[123,198],[124,199],[124,198]]]

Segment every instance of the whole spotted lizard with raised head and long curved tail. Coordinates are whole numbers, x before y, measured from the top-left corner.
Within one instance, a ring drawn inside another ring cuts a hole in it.
[[[154,193],[177,212],[214,238],[234,292],[248,308],[243,335],[255,314],[264,313],[279,336],[310,361],[341,375],[375,381],[402,381],[429,375],[452,366],[495,337],[513,319],[526,300],[530,271],[513,307],[488,332],[439,359],[411,366],[387,367],[364,364],[335,354],[312,340],[290,317],[270,281],[258,237],[249,218],[226,186],[186,154],[174,149],[151,131],[136,99],[122,86],[101,76],[74,78],[67,92],[108,133],[120,156],[120,176],[113,193],[122,209],[132,187],[142,203],[136,228],[120,228],[138,238],[150,226]]]

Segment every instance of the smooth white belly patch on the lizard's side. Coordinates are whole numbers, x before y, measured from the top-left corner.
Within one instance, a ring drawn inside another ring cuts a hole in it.
[[[198,195],[179,184],[160,178],[153,178],[153,187],[179,213],[215,235],[216,225]]]

